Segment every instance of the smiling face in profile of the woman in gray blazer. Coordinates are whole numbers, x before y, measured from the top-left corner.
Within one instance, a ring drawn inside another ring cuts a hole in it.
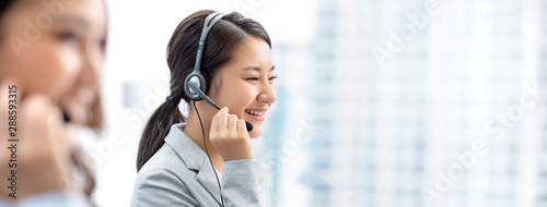
[[[247,37],[232,54],[232,60],[212,81],[209,92],[218,106],[253,124],[252,138],[261,135],[265,113],[276,101],[271,50],[260,38]]]

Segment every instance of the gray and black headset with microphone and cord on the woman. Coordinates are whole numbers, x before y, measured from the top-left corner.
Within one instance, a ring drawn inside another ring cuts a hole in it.
[[[211,157],[209,157],[209,150],[207,150],[207,142],[205,139],[205,130],[203,130],[203,124],[201,123],[201,117],[199,117],[199,111],[198,108],[196,107],[196,101],[205,99],[209,105],[213,106],[218,110],[220,108],[203,93],[207,92],[209,87],[209,78],[206,78],[201,74],[201,57],[203,56],[203,48],[205,48],[205,42],[207,38],[207,34],[209,31],[212,28],[212,26],[219,22],[225,14],[214,12],[209,14],[203,23],[203,29],[201,31],[201,37],[199,38],[199,46],[198,46],[198,52],[196,56],[196,65],[194,66],[194,71],[186,77],[184,82],[184,92],[186,96],[193,100],[194,108],[196,109],[196,113],[199,118],[199,124],[201,125],[201,133],[203,134],[203,145],[207,153],[207,157],[209,158],[209,162],[211,163],[211,168],[214,171],[214,176],[217,176],[217,182],[219,184],[219,192],[220,192],[220,200],[221,205],[224,206],[224,199],[222,198],[222,187],[220,185],[219,181],[219,175],[217,174],[217,171],[214,170],[214,166],[212,165]],[[253,130],[253,125],[245,121],[245,125],[247,127],[247,132],[251,132]]]

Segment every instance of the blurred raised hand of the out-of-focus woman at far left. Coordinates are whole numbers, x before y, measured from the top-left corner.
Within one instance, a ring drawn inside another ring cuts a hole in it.
[[[16,93],[14,89],[10,93],[9,86],[16,86]],[[22,94],[14,81],[0,81],[0,193],[1,197],[12,202],[31,194],[63,190],[65,183],[72,180],[70,154],[73,144],[60,110],[42,95],[25,97],[23,102]],[[16,99],[10,95],[15,95]],[[10,105],[14,107],[10,109]],[[16,131],[10,131],[10,121],[16,121]],[[12,136],[10,132],[15,134]],[[16,180],[8,181],[8,178]],[[12,184],[14,187],[7,187]]]

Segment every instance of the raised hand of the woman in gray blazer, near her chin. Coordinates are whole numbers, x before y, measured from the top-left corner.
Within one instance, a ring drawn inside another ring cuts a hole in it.
[[[224,107],[212,118],[209,138],[224,161],[253,159],[253,146],[245,121]]]

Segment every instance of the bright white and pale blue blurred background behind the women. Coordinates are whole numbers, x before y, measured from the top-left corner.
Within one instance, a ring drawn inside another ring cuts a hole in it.
[[[547,206],[546,1],[107,4],[107,127],[81,138],[100,206],[129,205],[140,133],[168,95],[168,39],[202,9],[271,37],[278,100],[253,143],[270,206]]]

